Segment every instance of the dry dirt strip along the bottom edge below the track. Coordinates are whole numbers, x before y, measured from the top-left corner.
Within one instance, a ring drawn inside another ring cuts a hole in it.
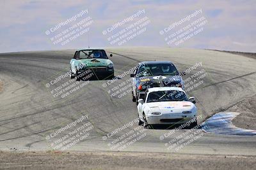
[[[0,169],[255,169],[256,157],[136,152],[0,152]],[[173,167],[173,168],[172,168]]]

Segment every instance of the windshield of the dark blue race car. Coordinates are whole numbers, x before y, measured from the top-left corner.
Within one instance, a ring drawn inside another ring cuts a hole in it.
[[[160,75],[178,75],[176,67],[173,64],[145,64],[139,68],[138,77],[141,76],[160,76]]]

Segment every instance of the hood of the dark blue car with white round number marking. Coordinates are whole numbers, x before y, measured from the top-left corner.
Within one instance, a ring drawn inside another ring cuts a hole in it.
[[[182,78],[177,75],[177,76],[168,76],[168,75],[164,75],[164,76],[147,76],[147,77],[141,77],[139,78],[139,80],[141,82],[145,82],[147,83],[151,83],[151,82],[156,82],[156,83],[164,83],[165,85],[167,84],[177,84],[180,83],[180,81],[182,81]]]

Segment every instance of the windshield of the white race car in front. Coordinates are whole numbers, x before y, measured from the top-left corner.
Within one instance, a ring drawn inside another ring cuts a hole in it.
[[[178,90],[168,90],[159,92],[150,92],[147,103],[161,101],[189,101],[186,94]]]

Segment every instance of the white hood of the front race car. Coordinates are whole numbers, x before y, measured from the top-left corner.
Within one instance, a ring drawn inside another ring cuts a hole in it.
[[[152,102],[147,103],[151,109],[159,110],[190,110],[194,104],[189,101],[164,101],[164,102]]]

